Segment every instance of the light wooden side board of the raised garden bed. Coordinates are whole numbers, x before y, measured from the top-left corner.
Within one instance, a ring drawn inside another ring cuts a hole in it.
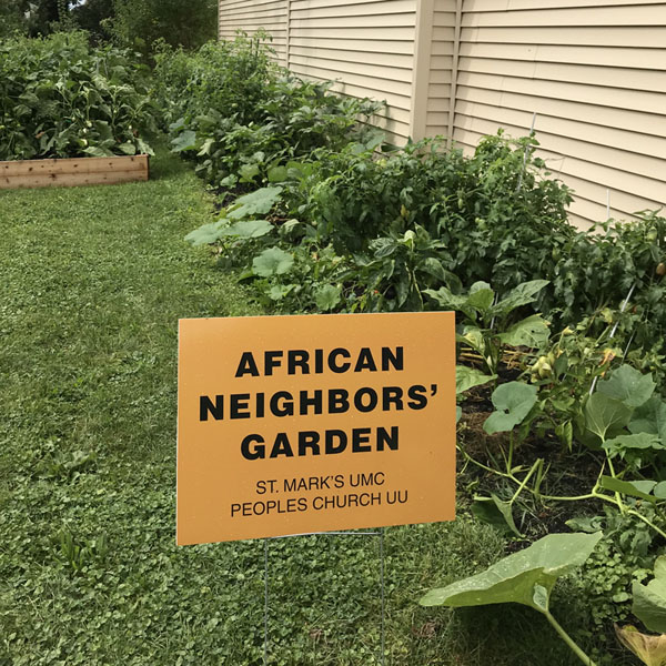
[[[148,155],[0,162],[0,190],[147,181]]]

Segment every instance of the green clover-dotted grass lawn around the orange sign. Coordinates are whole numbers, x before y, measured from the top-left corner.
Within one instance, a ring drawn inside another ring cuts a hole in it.
[[[178,319],[262,313],[183,242],[211,212],[164,154],[148,183],[0,193],[0,666],[262,664],[263,542],[174,543]],[[387,529],[385,663],[576,664],[529,609],[418,607],[504,548],[464,515]],[[270,664],[380,663],[377,538],[270,563]]]

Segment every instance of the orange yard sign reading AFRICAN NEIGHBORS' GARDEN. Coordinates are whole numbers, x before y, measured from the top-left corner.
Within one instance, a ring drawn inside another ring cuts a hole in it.
[[[180,545],[450,521],[451,312],[180,321]]]

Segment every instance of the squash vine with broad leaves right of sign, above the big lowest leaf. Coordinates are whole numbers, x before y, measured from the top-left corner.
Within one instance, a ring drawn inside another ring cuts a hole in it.
[[[517,490],[508,503],[493,496],[477,497],[477,504],[485,503],[485,507],[492,509],[490,514],[482,509],[478,516],[484,518],[488,514],[490,522],[508,526],[519,534],[511,517],[511,506],[523,492],[541,501],[598,500],[615,506],[622,514],[638,518],[655,534],[666,538],[664,517],[659,513],[666,503],[666,482],[660,481],[666,464],[666,402],[654,395],[654,390],[652,376],[629,365],[620,365],[598,383],[597,391],[584,403],[577,422],[578,437],[593,451],[603,454],[598,476],[589,493],[556,496],[542,493],[543,458],[536,460],[528,470],[513,463],[514,428],[521,426],[521,436],[525,436],[531,423],[543,416],[536,387],[521,382],[498,386],[493,393],[496,411],[486,420],[484,430],[488,434],[511,433],[506,455],[498,445],[504,467],[484,465],[464,450],[462,453],[467,462],[509,481]],[[652,505],[656,516],[645,515],[639,503]],[[502,516],[503,521],[500,519]]]

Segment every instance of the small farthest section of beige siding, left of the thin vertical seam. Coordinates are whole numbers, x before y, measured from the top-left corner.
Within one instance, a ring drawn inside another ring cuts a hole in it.
[[[220,0],[220,39],[233,39],[238,30],[254,34],[263,28],[280,64],[286,65],[289,0]]]

